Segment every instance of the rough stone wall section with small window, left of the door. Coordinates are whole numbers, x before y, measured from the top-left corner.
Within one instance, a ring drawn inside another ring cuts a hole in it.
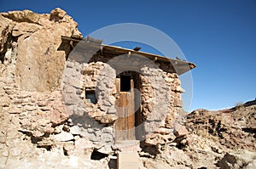
[[[63,73],[62,95],[68,115],[78,134],[98,146],[113,145],[115,115],[115,71],[102,62],[79,64],[67,60]],[[95,91],[96,104],[86,101],[85,95]]]

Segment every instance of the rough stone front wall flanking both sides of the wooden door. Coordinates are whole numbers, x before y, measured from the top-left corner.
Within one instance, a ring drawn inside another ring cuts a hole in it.
[[[94,144],[113,144],[113,121],[118,118],[114,107],[115,77],[115,70],[106,63],[98,61],[80,64],[67,60],[62,80],[67,112],[79,127],[79,134]],[[146,142],[172,142],[175,138],[172,133],[173,121],[177,110],[182,107],[183,89],[177,74],[144,67],[141,69],[140,81],[141,109],[145,121],[143,125],[148,134]],[[96,104],[86,101],[88,91],[95,91]],[[152,134],[154,132],[156,134]]]

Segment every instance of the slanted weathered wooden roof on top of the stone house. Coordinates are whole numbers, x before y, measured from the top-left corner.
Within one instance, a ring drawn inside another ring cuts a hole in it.
[[[93,48],[94,44],[96,44],[97,48],[99,48],[99,51],[103,53],[108,53],[108,54],[113,54],[113,55],[120,55],[120,54],[137,54],[137,55],[142,55],[144,57],[147,57],[148,59],[151,59],[153,61],[158,61],[158,62],[165,62],[167,64],[172,65],[172,70],[175,70],[178,75],[182,75],[183,73],[192,70],[196,67],[195,64],[191,62],[187,62],[185,60],[181,59],[172,59],[172,58],[166,58],[165,56],[160,56],[158,54],[149,54],[146,52],[142,51],[137,51],[129,48],[120,48],[116,46],[111,46],[111,45],[106,45],[102,44],[101,40],[97,40],[91,37],[86,37],[86,38],[76,38],[76,37],[61,37],[62,41],[72,41],[73,46],[77,45],[79,42],[82,42],[82,45],[79,44],[79,46],[84,47],[84,49],[88,49],[88,44],[90,43],[89,47]],[[86,42],[86,43],[84,43]],[[84,45],[83,45],[84,43]],[[91,45],[92,44],[92,45]],[[175,69],[173,69],[175,68]]]

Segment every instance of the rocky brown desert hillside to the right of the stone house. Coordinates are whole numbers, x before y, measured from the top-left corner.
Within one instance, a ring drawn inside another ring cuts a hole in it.
[[[227,110],[182,112],[188,133],[159,149],[147,168],[255,168],[256,101]],[[184,123],[183,123],[184,122]]]

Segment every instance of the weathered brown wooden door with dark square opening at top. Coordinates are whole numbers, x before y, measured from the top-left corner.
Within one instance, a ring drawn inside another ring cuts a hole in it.
[[[115,121],[115,124],[114,124],[115,142],[120,140],[136,139],[134,82],[133,82],[132,76],[126,76],[124,79],[122,79],[122,77],[116,79],[117,96],[116,96],[115,108],[117,110],[116,115],[119,116],[119,119]],[[126,84],[127,87],[125,88],[123,87],[123,89],[121,86],[122,80],[126,83],[130,82],[130,84]],[[127,91],[128,87],[131,87],[129,91]]]

